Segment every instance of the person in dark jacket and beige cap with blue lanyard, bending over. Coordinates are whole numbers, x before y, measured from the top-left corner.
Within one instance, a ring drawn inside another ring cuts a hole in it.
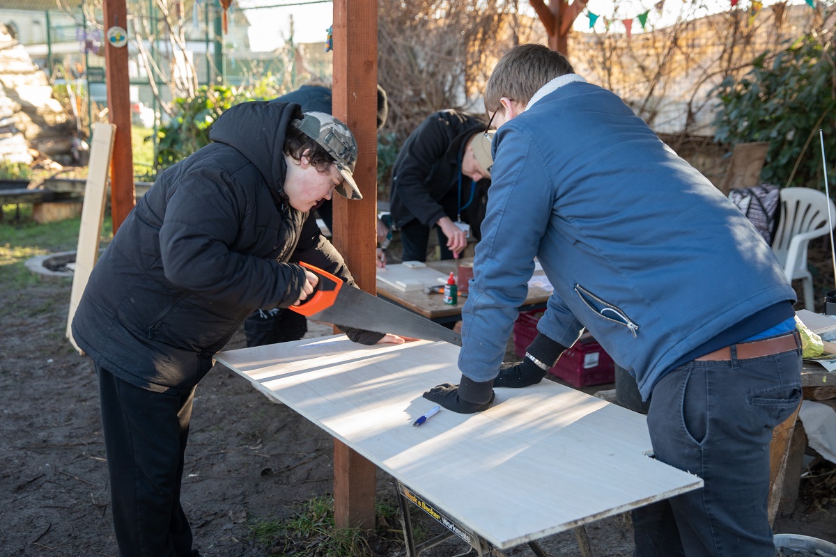
[[[426,261],[430,230],[441,259],[458,256],[480,237],[491,185],[491,141],[485,122],[456,110],[431,114],[410,134],[392,167],[390,212],[403,261]]]

